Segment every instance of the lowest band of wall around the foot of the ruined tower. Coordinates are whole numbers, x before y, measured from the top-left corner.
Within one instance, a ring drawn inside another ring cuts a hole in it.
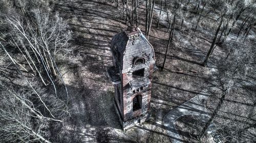
[[[151,117],[151,112],[146,112],[146,113],[144,113],[141,116],[138,116],[136,118],[133,118],[133,119],[130,119],[130,120],[124,122],[122,116],[120,115],[121,113],[120,113],[120,111],[118,109],[118,106],[116,105],[117,103],[116,103],[115,100],[114,100],[114,103],[115,103],[114,104],[115,110],[117,112],[117,115],[119,117],[119,122],[121,123],[121,126],[122,126],[123,130],[127,130],[127,129],[135,126],[135,125],[139,125],[139,124],[149,120],[150,117]]]

